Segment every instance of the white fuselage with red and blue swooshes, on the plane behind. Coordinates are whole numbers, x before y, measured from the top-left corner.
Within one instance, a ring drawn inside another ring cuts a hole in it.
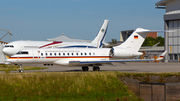
[[[62,41],[14,41],[3,48],[3,52],[11,56],[23,49],[41,48],[97,48],[93,43],[82,42],[62,42]]]

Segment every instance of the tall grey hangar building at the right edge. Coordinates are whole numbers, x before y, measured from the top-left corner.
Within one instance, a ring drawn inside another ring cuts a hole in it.
[[[166,32],[165,37],[165,62],[180,61],[180,0],[161,0],[156,3],[156,8],[165,9],[164,29],[173,30]]]

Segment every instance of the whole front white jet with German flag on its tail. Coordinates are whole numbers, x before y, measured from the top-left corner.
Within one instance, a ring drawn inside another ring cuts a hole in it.
[[[7,62],[20,64],[19,72],[23,72],[22,64],[82,66],[83,71],[88,71],[88,66],[92,66],[94,71],[99,71],[99,66],[113,62],[161,60],[166,52],[161,54],[158,59],[128,59],[142,55],[138,51],[149,32],[157,31],[138,28],[124,43],[113,48],[40,48],[21,50],[12,55]],[[114,60],[112,60],[113,58]]]

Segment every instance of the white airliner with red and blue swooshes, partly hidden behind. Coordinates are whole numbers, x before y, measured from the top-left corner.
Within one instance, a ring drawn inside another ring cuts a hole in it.
[[[99,33],[91,43],[62,41],[14,41],[4,46],[3,53],[11,56],[22,49],[29,48],[101,48],[107,32],[108,22],[109,20],[104,20]]]

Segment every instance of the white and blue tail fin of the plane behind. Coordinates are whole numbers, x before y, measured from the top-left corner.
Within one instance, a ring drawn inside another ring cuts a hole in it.
[[[91,42],[92,44],[96,44],[97,48],[102,47],[103,41],[106,36],[107,28],[108,28],[108,22],[109,20],[104,20],[104,23],[101,29],[99,30],[99,33],[97,34],[96,38]]]

